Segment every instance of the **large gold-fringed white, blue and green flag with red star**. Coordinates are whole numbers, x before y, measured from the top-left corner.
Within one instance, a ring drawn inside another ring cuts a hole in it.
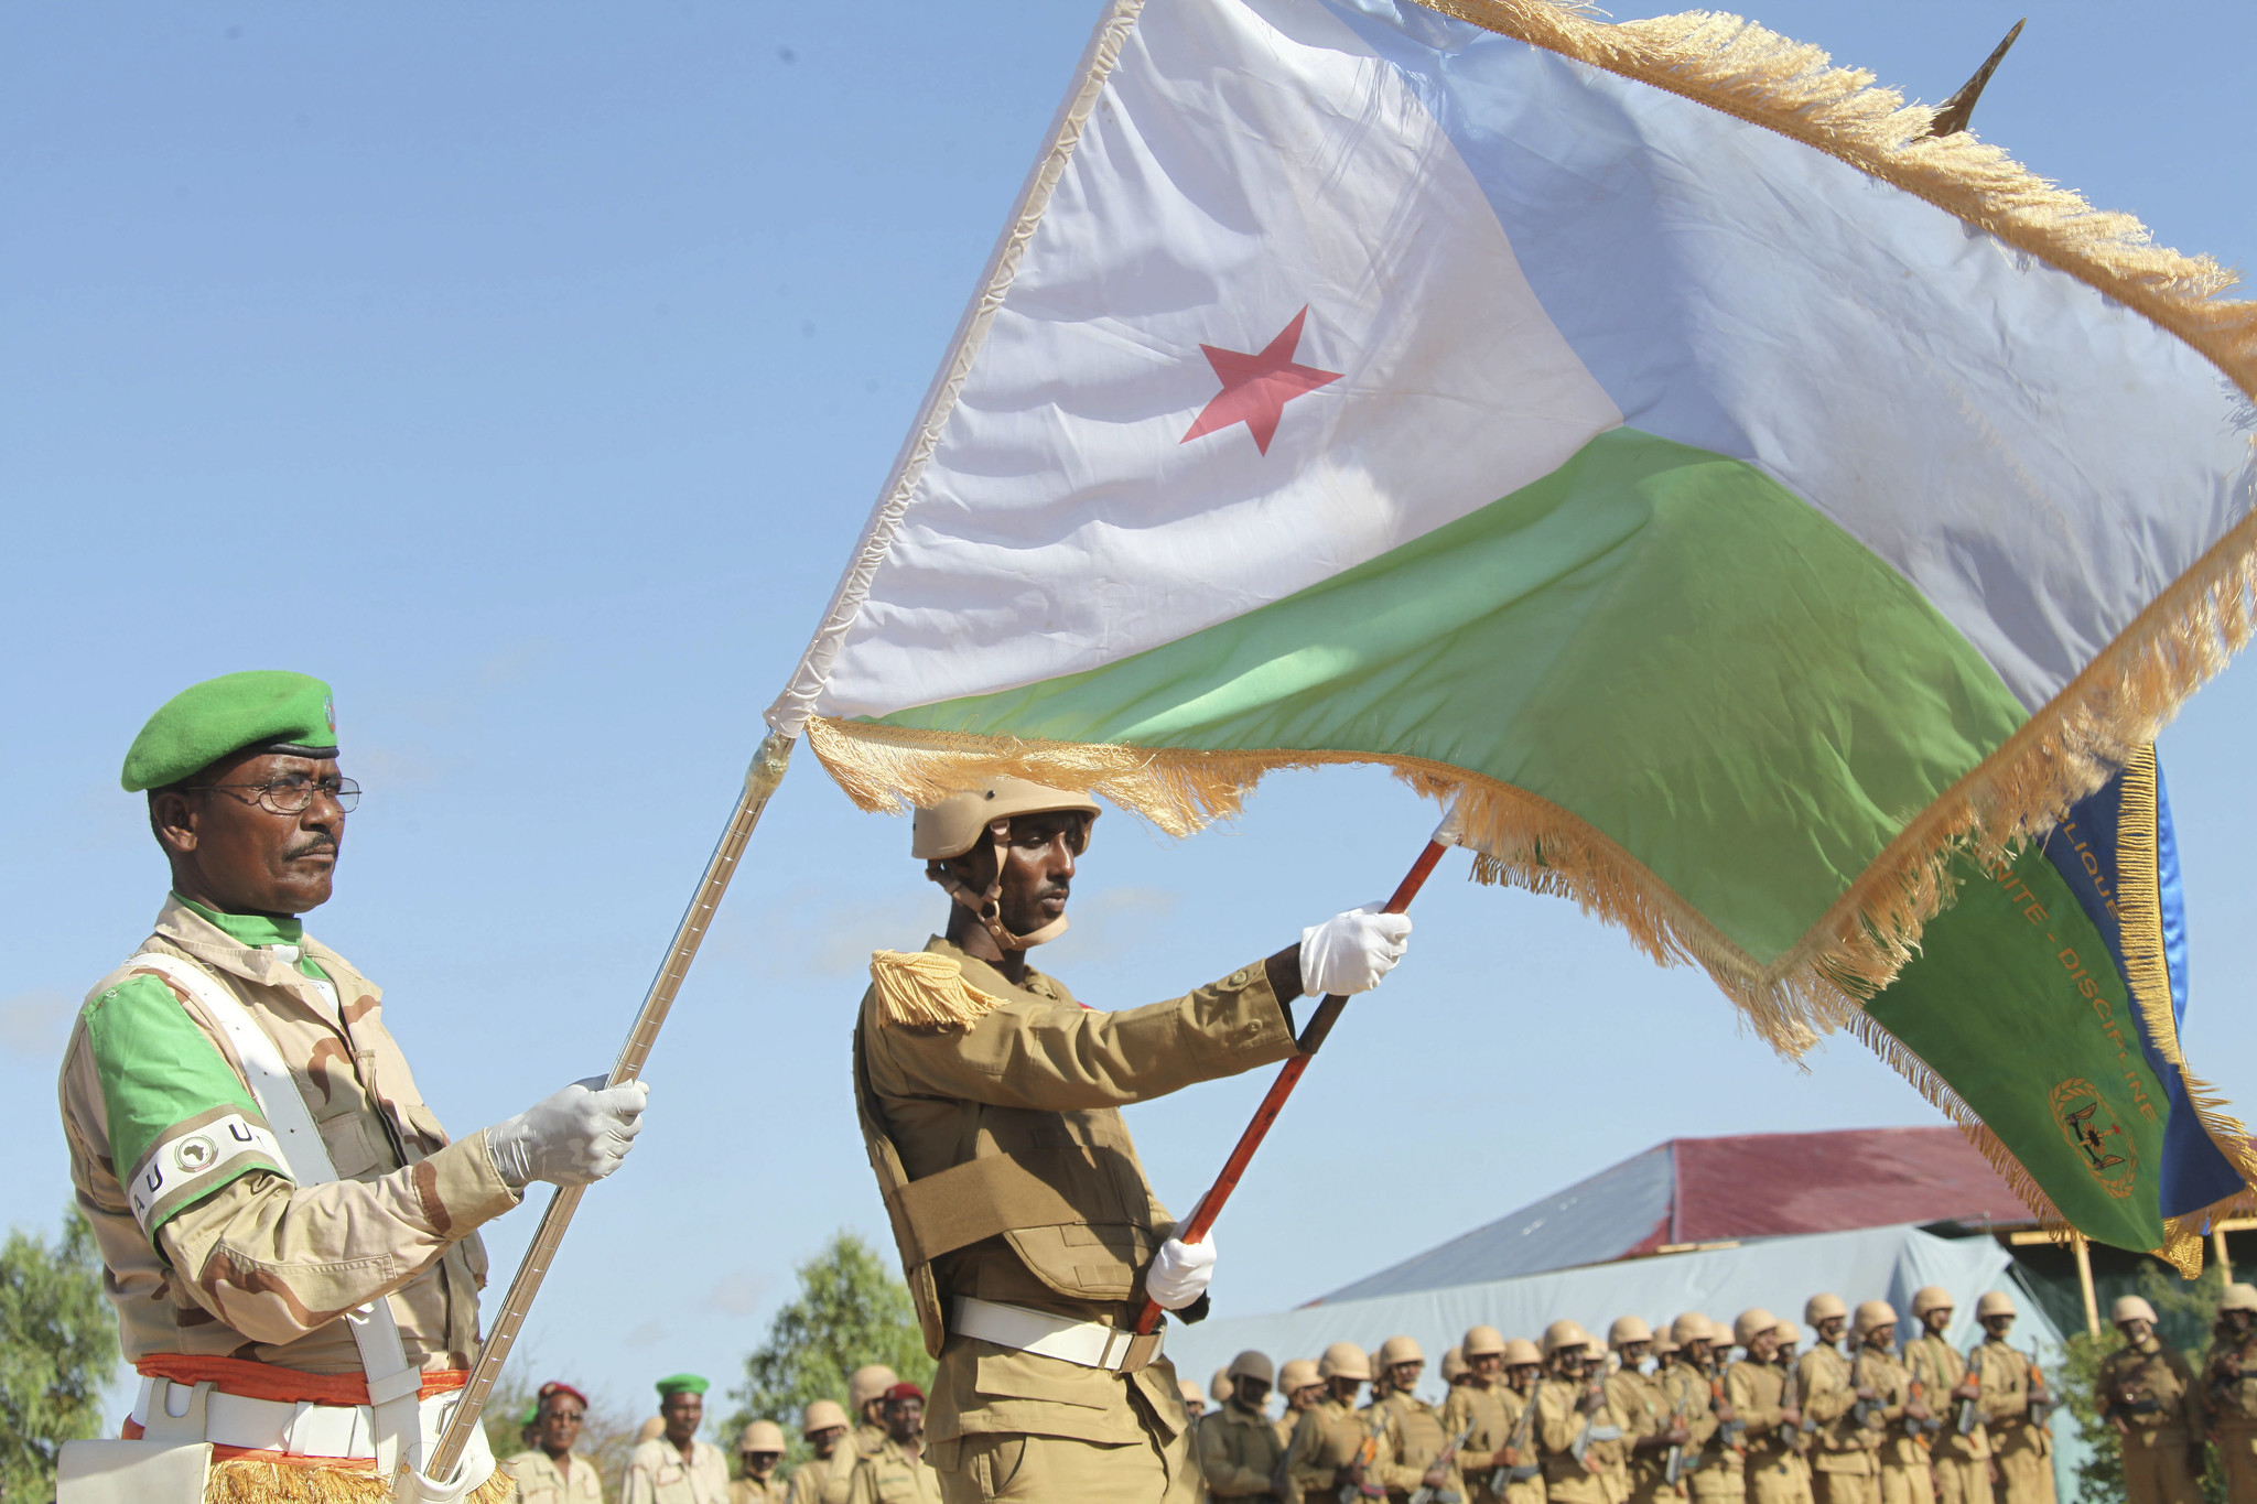
[[[770,724],[1386,764],[1803,1049],[2248,638],[2257,304],[1760,27],[1447,9],[1106,9]]]

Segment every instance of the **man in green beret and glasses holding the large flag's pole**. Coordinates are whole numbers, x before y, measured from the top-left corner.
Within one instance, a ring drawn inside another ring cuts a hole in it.
[[[381,990],[300,918],[361,796],[336,742],[305,674],[226,674],[149,717],[120,782],[169,891],[63,1051],[70,1179],[142,1380],[126,1439],[178,1448],[212,1497],[284,1457],[311,1490],[420,1472],[478,1351],[478,1227],[535,1179],[618,1168],[646,1100],[571,1085],[449,1139]],[[488,1504],[510,1493],[494,1472],[474,1427],[447,1481]]]

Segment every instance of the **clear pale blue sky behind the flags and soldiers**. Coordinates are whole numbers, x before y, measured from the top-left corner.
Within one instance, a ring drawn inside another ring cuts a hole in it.
[[[1760,11],[1925,99],[2022,11]],[[2158,239],[2257,253],[2248,7],[2040,5],[1977,131]],[[165,873],[115,785],[167,695],[336,685],[368,785],[314,929],[386,985],[456,1132],[603,1069],[844,564],[1095,7],[0,9],[0,1220],[68,1197],[54,1064]],[[2187,1053],[2257,1103],[2257,670],[2164,737]],[[1169,997],[1384,893],[1431,814],[1273,780],[1187,843],[1108,814],[1043,965]],[[1298,1303],[1677,1134],[1932,1123],[1855,1042],[1781,1064],[1693,972],[1472,888],[1356,1003],[1221,1227],[1219,1310]],[[846,1033],[946,906],[801,755],[524,1351],[641,1405],[734,1382],[833,1229],[885,1242]],[[1341,1049],[1341,1046],[1350,1049]],[[1131,1114],[1189,1204],[1266,1076]],[[533,1213],[490,1229],[515,1265]],[[497,1279],[497,1288],[499,1288]],[[1799,1297],[1797,1297],[1799,1299]]]

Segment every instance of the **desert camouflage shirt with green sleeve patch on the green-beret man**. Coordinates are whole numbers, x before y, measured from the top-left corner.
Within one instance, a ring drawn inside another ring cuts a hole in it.
[[[409,1364],[469,1366],[485,1283],[474,1229],[517,1193],[483,1132],[449,1143],[384,1028],[381,990],[296,920],[214,922],[178,897],[142,949],[201,965],[248,1008],[339,1179],[298,1188],[253,1143],[266,1118],[226,1030],[190,997],[131,961],[95,983],[63,1049],[63,1139],[126,1362],[187,1353],[359,1373],[341,1317],[388,1294]],[[151,1182],[156,1200],[129,1191]]]

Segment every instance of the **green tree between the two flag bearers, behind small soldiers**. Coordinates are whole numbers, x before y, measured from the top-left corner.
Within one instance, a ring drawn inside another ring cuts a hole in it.
[[[813,1400],[844,1405],[846,1378],[873,1362],[919,1387],[932,1382],[910,1288],[873,1247],[840,1231],[799,1265],[797,1294],[767,1324],[767,1339],[745,1357],[745,1382],[729,1391],[736,1414],[722,1425],[722,1448],[734,1454],[743,1425],[774,1421],[790,1443],[785,1466],[799,1466],[808,1454],[799,1439],[799,1412]]]

